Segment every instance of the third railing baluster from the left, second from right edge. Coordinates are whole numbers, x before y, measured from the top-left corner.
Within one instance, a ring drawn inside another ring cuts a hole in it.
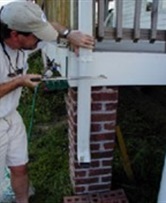
[[[135,16],[134,16],[134,42],[140,39],[140,18],[141,18],[142,0],[135,0]]]

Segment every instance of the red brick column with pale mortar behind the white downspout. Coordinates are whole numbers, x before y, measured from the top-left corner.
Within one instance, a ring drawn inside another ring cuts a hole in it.
[[[93,87],[91,98],[91,163],[86,167],[77,162],[76,155],[77,89],[70,88],[66,99],[70,177],[75,194],[105,192],[111,189],[118,88]]]

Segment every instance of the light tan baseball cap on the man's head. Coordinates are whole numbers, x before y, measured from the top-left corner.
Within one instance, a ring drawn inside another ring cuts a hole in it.
[[[1,21],[12,30],[31,32],[43,41],[55,41],[58,36],[40,6],[29,1],[6,4],[1,11]]]

